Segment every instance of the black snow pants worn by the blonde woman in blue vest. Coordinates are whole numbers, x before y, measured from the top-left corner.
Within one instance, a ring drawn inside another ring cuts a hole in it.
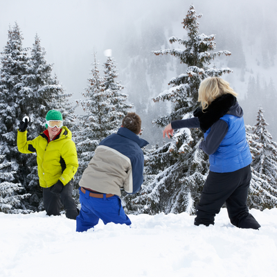
[[[209,172],[200,202],[196,206],[195,225],[214,224],[224,202],[233,225],[245,229],[259,229],[260,224],[249,213],[247,194],[251,181],[250,165],[227,173]]]

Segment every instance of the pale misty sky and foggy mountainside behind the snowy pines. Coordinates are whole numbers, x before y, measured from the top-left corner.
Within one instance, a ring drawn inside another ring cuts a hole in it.
[[[0,46],[6,45],[8,28],[15,21],[21,27],[24,46],[30,47],[37,33],[46,60],[54,63],[53,71],[66,91],[73,93],[72,100],[80,98],[87,86],[93,52],[102,64],[104,51],[111,49],[118,80],[125,86],[123,92],[136,111],[145,115],[143,136],[150,136],[151,144],[162,143],[161,130],[151,122],[168,112],[170,104],[154,103],[152,98],[169,89],[168,82],[184,73],[186,66],[172,57],[157,57],[152,51],[175,47],[168,42],[172,36],[186,36],[181,21],[190,3],[61,0],[48,1],[45,6],[35,0],[2,1],[5,12],[0,17]],[[269,132],[276,139],[276,1],[197,0],[193,4],[203,15],[199,30],[216,35],[216,51],[232,53],[231,57],[217,58],[215,66],[233,71],[222,77],[239,94],[245,123],[255,124],[258,106],[262,105]]]

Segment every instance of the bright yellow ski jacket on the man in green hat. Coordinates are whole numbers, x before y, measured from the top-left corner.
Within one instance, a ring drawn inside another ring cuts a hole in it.
[[[63,126],[60,134],[50,141],[48,130],[39,134],[33,141],[27,141],[27,131],[17,131],[17,148],[21,153],[37,153],[39,185],[49,188],[62,181],[64,186],[73,179],[78,169],[78,157],[72,134]]]

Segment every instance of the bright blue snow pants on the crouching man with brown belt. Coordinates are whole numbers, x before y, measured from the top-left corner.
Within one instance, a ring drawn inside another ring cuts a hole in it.
[[[95,198],[89,196],[89,190],[86,193],[80,193],[81,211],[76,218],[76,231],[83,232],[93,228],[98,224],[99,219],[107,224],[114,222],[116,224],[131,225],[131,220],[125,214],[121,200],[117,195],[112,197]]]

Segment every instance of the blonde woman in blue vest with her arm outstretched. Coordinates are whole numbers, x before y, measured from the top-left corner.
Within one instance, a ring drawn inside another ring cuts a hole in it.
[[[233,225],[244,229],[260,228],[247,208],[252,158],[243,111],[236,96],[222,78],[206,78],[199,87],[201,107],[193,112],[195,117],[172,121],[163,130],[163,137],[167,135],[168,138],[174,129],[185,127],[200,128],[204,132],[199,148],[209,155],[210,171],[196,206],[195,225],[214,224],[215,214],[226,202]]]

